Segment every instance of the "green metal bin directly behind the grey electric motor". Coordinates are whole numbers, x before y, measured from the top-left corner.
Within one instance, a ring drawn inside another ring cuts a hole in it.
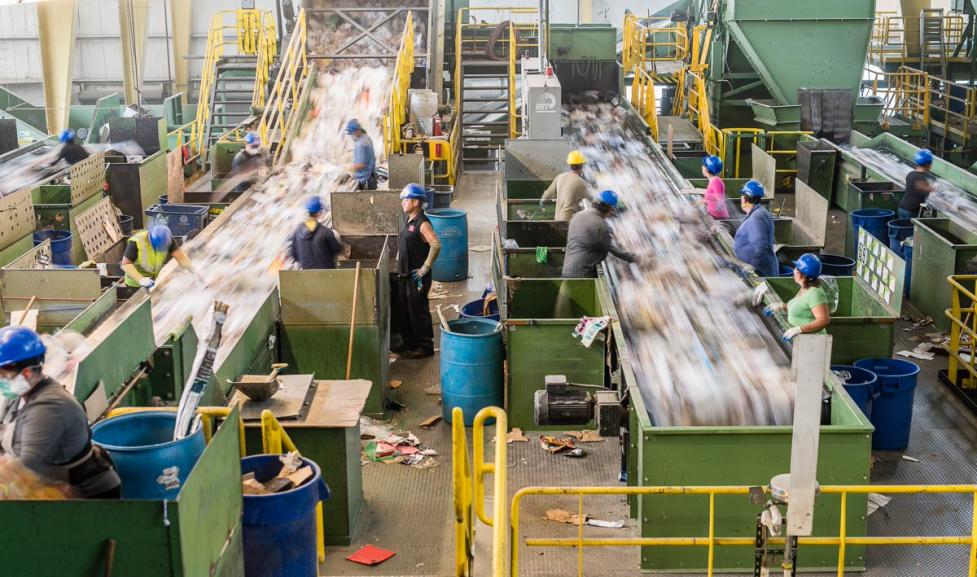
[[[522,279],[506,285],[505,323],[506,409],[509,425],[523,430],[540,427],[533,418],[533,395],[546,375],[566,375],[571,383],[603,385],[606,344],[590,348],[571,332],[582,316],[602,316],[596,280]],[[500,303],[502,304],[502,303]],[[588,427],[593,427],[589,423]]]

